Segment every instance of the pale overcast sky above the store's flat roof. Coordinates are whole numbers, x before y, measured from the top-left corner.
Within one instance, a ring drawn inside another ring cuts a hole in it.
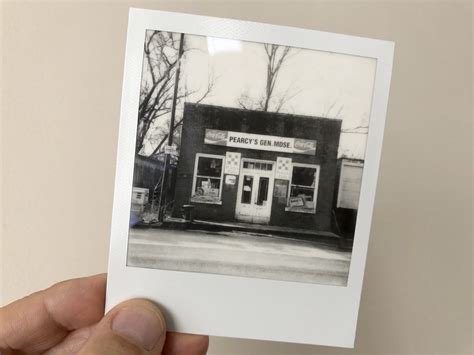
[[[245,93],[257,99],[266,84],[263,44],[185,36],[191,48],[181,66],[180,85],[204,89],[214,76],[212,94],[202,103],[239,107]],[[276,95],[291,98],[280,112],[342,119],[342,129],[368,126],[376,60],[372,58],[294,48],[279,73]],[[200,93],[188,101],[197,99]],[[356,132],[367,132],[357,129]],[[366,134],[343,133],[339,156],[365,155]]]

